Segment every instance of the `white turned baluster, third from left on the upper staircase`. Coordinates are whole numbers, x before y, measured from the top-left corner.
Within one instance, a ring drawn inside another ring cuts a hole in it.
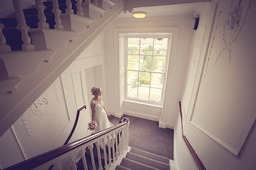
[[[36,4],[33,5],[37,11],[38,11],[38,20],[39,20],[39,23],[37,23],[38,25],[38,28],[47,28],[49,29],[49,24],[46,23],[46,17],[45,17],[45,13],[43,12],[46,7],[45,5],[43,5],[43,0],[35,0]]]

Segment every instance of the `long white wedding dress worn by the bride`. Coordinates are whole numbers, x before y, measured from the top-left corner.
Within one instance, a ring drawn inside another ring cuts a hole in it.
[[[100,96],[100,102],[92,100],[94,103],[95,115],[94,119],[97,122],[98,128],[95,129],[94,133],[100,132],[106,128],[114,126],[107,117],[106,111],[103,109],[104,103],[103,98]]]

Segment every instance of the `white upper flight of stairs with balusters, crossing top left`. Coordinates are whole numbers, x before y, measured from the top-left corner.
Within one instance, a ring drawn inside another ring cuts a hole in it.
[[[124,7],[124,0],[35,1],[23,9],[27,26],[0,19],[0,136]]]

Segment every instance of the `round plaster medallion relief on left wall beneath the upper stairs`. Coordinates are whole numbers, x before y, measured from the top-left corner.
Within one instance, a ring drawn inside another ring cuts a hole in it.
[[[48,113],[51,106],[52,106],[52,98],[48,93],[43,93],[43,95],[41,95],[40,98],[36,100],[33,103],[33,105],[30,106],[31,111],[37,116],[40,116],[38,126],[37,126],[38,130],[40,128],[40,123],[43,119],[43,116],[52,115],[51,113]]]

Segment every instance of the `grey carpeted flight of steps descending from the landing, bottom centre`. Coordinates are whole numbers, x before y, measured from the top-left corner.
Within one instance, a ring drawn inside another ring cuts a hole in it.
[[[126,169],[128,168],[128,169]],[[169,159],[163,156],[131,148],[116,170],[170,170]]]

